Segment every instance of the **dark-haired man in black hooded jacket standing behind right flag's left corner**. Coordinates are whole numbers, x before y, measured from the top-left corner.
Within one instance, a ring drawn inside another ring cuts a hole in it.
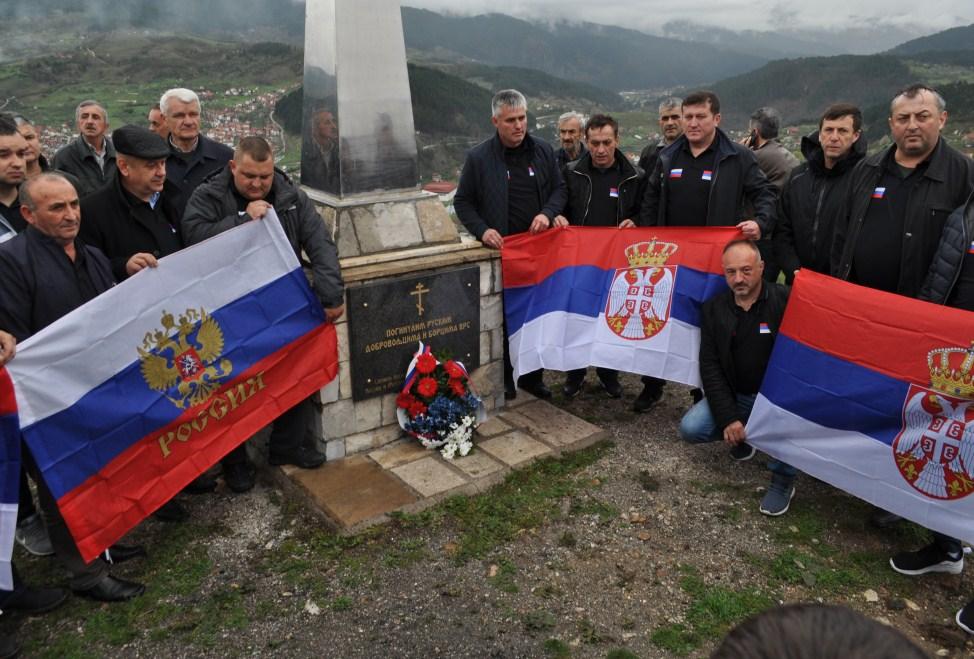
[[[844,212],[850,174],[866,155],[862,112],[836,103],[818,130],[802,138],[805,162],[791,173],[778,199],[774,253],[791,284],[800,268],[829,274],[835,221]]]

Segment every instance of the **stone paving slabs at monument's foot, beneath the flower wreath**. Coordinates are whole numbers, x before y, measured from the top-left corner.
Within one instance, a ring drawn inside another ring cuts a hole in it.
[[[480,425],[474,451],[444,459],[412,438],[314,470],[275,467],[286,491],[302,498],[341,533],[386,522],[389,513],[416,513],[454,495],[485,492],[513,469],[577,451],[604,430],[526,391]]]

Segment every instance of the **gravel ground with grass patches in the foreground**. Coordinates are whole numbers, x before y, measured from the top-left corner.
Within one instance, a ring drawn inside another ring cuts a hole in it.
[[[188,524],[136,529],[129,540],[150,557],[117,568],[148,584],[136,602],[72,598],[0,623],[27,656],[618,659],[707,656],[752,611],[824,601],[931,655],[974,656],[952,620],[974,596],[969,571],[911,580],[886,564],[924,541],[919,529],[873,529],[867,506],[805,476],[792,510],[765,517],[763,456],[735,463],[721,445],[684,445],[688,390],[669,385],[635,415],[639,382],[623,382],[621,401],[594,388],[556,401],[606,428],[611,446],[549,494],[547,513],[475,558],[458,559],[469,531],[449,505],[340,539],[262,483],[185,499]],[[52,561],[16,560],[32,583],[62,581]]]

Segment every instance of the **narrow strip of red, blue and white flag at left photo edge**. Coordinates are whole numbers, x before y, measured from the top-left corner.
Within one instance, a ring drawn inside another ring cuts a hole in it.
[[[10,558],[17,530],[20,494],[20,425],[17,401],[7,371],[0,368],[0,590],[13,590]]]

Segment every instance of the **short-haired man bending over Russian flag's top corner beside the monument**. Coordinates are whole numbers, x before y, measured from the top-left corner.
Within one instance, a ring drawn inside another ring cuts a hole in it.
[[[245,222],[263,220],[271,209],[295,256],[300,260],[303,252],[311,260],[312,288],[325,316],[330,322],[338,320],[345,303],[335,243],[308,196],[274,168],[274,154],[264,138],[240,140],[227,167],[196,189],[183,217],[186,242],[192,245]],[[313,414],[312,399],[307,398],[274,421],[268,457],[272,465],[313,469],[325,461],[308,434]],[[224,458],[223,469],[233,489],[253,487],[254,469],[245,445]]]

